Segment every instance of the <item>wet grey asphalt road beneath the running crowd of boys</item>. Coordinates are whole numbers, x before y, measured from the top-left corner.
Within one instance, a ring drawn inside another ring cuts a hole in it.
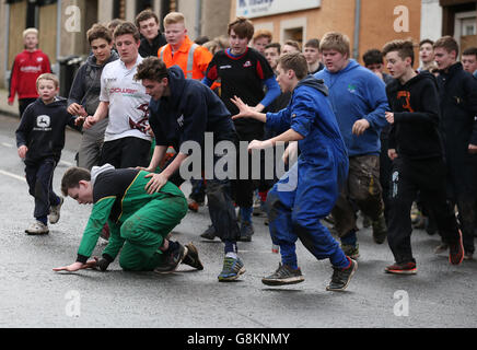
[[[449,265],[445,255],[432,253],[438,237],[422,231],[412,235],[418,275],[402,277],[383,272],[393,260],[387,243],[375,245],[370,230],[361,230],[358,272],[344,293],[325,291],[329,262],[314,259],[301,243],[296,250],[305,282],[284,288],[263,284],[261,277],[272,272],[279,260],[270,252],[263,218],[254,218],[253,242],[238,245],[247,272],[237,282],[219,283],[222,244],[200,240],[210,222],[203,207],[189,212],[174,230],[179,242],[196,244],[203,271],[182,266],[167,276],[131,273],[115,261],[107,272],[54,272],[54,267],[74,261],[91,208],[69,198],[49,235],[24,233],[32,221],[33,199],[16,155],[18,122],[0,116],[0,327],[477,326],[477,261]],[[61,175],[74,163],[79,140],[78,132],[68,131],[54,179],[58,192]],[[189,186],[183,190],[187,195]],[[98,244],[95,255],[102,248]]]

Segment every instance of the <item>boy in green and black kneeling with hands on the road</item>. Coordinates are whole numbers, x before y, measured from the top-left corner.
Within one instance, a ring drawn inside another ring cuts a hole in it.
[[[96,267],[104,271],[120,249],[119,265],[124,270],[172,272],[181,262],[203,269],[193,243],[183,246],[166,238],[187,213],[184,194],[172,183],[148,194],[148,174],[135,168],[116,170],[110,164],[94,166],[91,173],[81,167],[65,173],[63,195],[80,205],[93,203],[93,210],[77,261],[54,271]],[[100,259],[88,260],[106,221],[110,230],[108,244]]]

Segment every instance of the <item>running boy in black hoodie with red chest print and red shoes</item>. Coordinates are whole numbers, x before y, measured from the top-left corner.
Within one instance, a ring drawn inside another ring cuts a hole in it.
[[[420,191],[437,219],[442,240],[451,247],[449,260],[464,258],[462,235],[452,207],[446,201],[445,165],[439,132],[439,98],[435,78],[412,69],[412,42],[394,40],[383,48],[387,69],[396,80],[386,86],[392,112],[388,155],[393,160],[387,241],[396,262],[388,273],[417,272],[412,257],[410,208]]]

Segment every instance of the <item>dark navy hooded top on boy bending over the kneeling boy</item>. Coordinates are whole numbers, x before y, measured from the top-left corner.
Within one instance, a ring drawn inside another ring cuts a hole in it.
[[[235,128],[222,101],[199,81],[185,79],[178,66],[167,69],[170,96],[151,98],[149,124],[158,145],[179,151],[185,141],[203,144],[205,132],[213,132],[214,142],[233,140]]]

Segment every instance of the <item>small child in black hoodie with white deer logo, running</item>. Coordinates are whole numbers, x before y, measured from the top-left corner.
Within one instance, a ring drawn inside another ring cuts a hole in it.
[[[39,97],[24,112],[16,129],[19,156],[25,160],[28,191],[35,198],[35,222],[27,234],[47,234],[50,223],[57,223],[63,202],[53,190],[53,174],[65,147],[65,128],[77,128],[75,117],[67,112],[67,100],[57,97],[58,78],[51,73],[36,80]]]

